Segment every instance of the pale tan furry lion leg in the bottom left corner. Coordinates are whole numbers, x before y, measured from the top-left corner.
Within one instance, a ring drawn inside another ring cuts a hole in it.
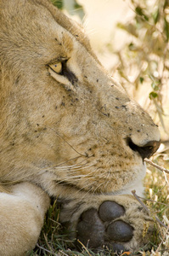
[[[36,185],[19,183],[0,193],[0,255],[20,256],[35,247],[49,207],[49,197]]]

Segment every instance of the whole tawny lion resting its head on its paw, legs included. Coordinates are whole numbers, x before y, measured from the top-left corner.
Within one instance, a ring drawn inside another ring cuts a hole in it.
[[[144,193],[157,125],[49,0],[0,4],[0,255],[36,246],[51,196],[85,246],[149,247],[154,223],[131,191]]]

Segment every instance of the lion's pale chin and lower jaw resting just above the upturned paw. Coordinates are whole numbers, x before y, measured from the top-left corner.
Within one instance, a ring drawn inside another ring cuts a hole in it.
[[[41,172],[41,178],[39,179],[38,176],[37,181],[34,180],[33,183],[38,183],[43,190],[48,192],[48,195],[57,197],[59,195],[60,198],[75,198],[79,195],[132,195],[132,190],[136,190],[137,195],[142,196],[145,173],[146,166],[134,166],[127,172],[127,181],[116,175],[115,179],[110,177],[104,180],[103,178],[86,177],[77,182],[76,177],[71,177],[69,180],[68,177],[58,177],[55,172]]]

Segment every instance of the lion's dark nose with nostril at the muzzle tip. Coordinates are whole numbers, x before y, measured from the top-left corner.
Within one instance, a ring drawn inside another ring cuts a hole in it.
[[[149,158],[151,155],[155,154],[155,151],[160,147],[161,143],[157,141],[151,141],[146,143],[143,147],[139,147],[136,144],[132,143],[131,138],[128,139],[128,146],[133,150],[137,151],[141,157]]]

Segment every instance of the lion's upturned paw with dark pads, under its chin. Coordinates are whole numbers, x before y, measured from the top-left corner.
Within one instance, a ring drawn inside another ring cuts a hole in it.
[[[109,247],[118,253],[145,248],[154,232],[154,222],[132,195],[71,201],[63,206],[60,220],[70,221],[70,229],[86,247]]]

